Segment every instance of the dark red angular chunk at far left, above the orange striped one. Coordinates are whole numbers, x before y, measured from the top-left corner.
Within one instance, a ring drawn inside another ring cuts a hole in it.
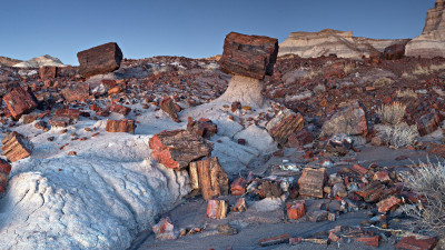
[[[24,90],[21,87],[17,87],[6,94],[3,101],[14,119],[19,119],[23,113],[31,112],[38,106],[37,98],[31,90]]]

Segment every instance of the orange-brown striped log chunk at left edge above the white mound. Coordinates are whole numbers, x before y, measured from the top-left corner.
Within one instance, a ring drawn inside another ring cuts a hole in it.
[[[31,142],[16,131],[8,134],[1,143],[1,154],[12,162],[31,156]]]

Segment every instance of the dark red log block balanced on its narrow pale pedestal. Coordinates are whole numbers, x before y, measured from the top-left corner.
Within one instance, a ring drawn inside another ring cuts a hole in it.
[[[274,73],[278,40],[261,36],[231,32],[226,36],[220,70],[233,74],[226,92],[218,101],[239,101],[243,106],[263,107],[263,79]]]

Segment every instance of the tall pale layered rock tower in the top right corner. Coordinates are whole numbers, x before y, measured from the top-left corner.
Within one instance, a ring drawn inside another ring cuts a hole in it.
[[[421,36],[406,44],[409,57],[445,57],[445,0],[437,0],[426,13],[425,28]]]

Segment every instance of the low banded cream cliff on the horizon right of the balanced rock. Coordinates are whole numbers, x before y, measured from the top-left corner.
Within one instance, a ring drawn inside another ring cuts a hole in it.
[[[297,54],[303,58],[317,58],[337,54],[340,58],[362,58],[379,56],[386,47],[408,42],[408,39],[369,39],[353,37],[353,31],[325,29],[319,32],[293,32],[279,44],[278,56]]]

